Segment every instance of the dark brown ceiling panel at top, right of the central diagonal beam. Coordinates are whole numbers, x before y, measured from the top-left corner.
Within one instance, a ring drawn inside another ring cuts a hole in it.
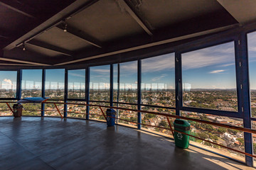
[[[193,18],[198,19],[219,11],[225,12],[222,13],[222,18],[227,18],[235,23],[235,19],[216,0],[131,0],[130,3],[153,29],[174,26],[176,23]]]

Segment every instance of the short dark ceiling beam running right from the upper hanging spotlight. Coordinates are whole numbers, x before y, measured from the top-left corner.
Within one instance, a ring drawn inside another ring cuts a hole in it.
[[[61,30],[64,30],[64,26],[63,24],[60,24],[59,26],[57,26],[57,28],[60,28]],[[98,40],[95,40],[95,38],[92,38],[90,35],[87,35],[86,33],[73,28],[72,26],[67,26],[66,28],[67,33],[70,33],[71,35],[74,35],[82,40],[84,40],[85,42],[89,43],[90,45],[94,45],[95,47],[102,47],[101,42],[99,42]]]

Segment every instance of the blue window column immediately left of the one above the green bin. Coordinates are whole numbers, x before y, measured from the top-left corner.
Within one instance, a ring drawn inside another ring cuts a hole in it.
[[[142,60],[138,60],[138,84],[137,84],[137,102],[138,102],[138,110],[142,110]],[[138,123],[142,123],[142,113],[138,112]],[[138,130],[142,128],[141,124],[138,124]]]

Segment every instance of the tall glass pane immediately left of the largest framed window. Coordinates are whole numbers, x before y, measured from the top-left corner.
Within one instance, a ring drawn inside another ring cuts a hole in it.
[[[175,107],[174,53],[142,60],[142,104]]]

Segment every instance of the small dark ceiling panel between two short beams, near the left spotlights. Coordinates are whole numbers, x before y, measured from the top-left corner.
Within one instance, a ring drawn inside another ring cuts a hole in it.
[[[64,32],[60,28],[56,27],[38,35],[35,40],[40,40],[50,45],[55,45],[70,51],[80,50],[81,48],[90,46],[90,44],[85,42],[85,40],[82,40],[68,32]]]

